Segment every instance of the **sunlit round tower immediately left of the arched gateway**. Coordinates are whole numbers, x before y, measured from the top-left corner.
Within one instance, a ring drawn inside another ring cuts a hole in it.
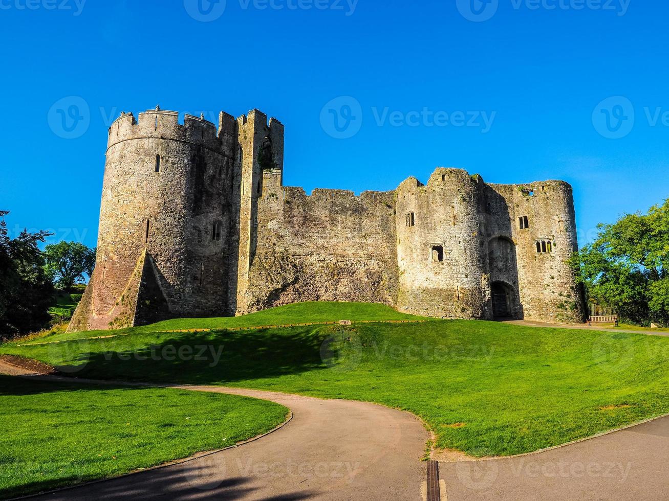
[[[484,259],[484,182],[438,168],[427,186],[397,188],[399,311],[449,318],[490,316]]]

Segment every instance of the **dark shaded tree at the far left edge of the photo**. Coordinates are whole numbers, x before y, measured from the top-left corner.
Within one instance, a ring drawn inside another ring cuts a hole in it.
[[[23,230],[12,240],[5,223],[8,213],[0,210],[0,338],[47,327],[54,295],[37,246],[50,234]]]

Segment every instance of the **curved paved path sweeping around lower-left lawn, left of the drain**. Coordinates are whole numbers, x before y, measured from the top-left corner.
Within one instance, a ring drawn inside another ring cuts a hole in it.
[[[0,371],[3,371],[0,363]],[[29,376],[26,376],[29,377]],[[99,382],[54,376],[60,381]],[[279,430],[237,448],[39,496],[49,500],[420,500],[427,431],[413,415],[373,403],[216,386],[292,410]]]

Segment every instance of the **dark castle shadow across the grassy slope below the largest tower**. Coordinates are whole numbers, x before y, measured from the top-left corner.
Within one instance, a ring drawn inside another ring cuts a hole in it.
[[[231,383],[325,369],[326,329],[262,329],[155,337],[157,342],[88,344],[58,367],[64,375],[158,383]],[[128,339],[128,338],[125,338]],[[96,351],[92,351],[95,349]]]

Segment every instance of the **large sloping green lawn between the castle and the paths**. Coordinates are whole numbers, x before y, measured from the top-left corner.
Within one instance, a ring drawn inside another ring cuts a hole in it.
[[[324,307],[326,315],[310,319],[383,316],[373,305],[357,313],[355,305]],[[277,310],[280,316],[266,311],[225,321],[283,323],[290,309]],[[306,318],[292,316],[296,323]],[[439,447],[475,456],[529,452],[669,412],[666,337],[442,320],[149,332],[174,323],[112,339],[7,344],[0,352],[86,377],[373,401],[421,416]]]

